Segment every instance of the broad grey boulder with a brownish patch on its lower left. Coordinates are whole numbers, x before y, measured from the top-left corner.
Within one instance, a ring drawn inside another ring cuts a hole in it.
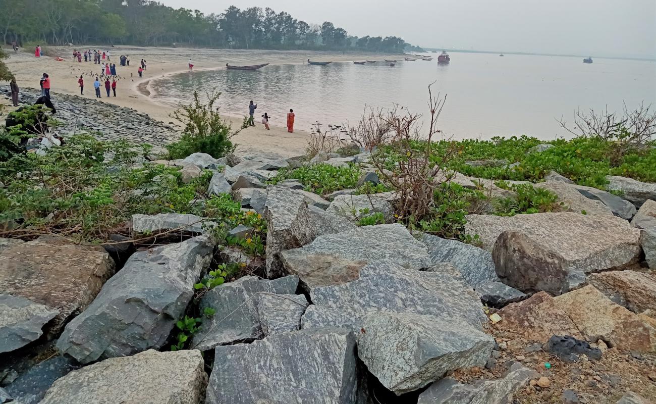
[[[358,279],[369,262],[392,259],[410,269],[430,266],[427,249],[403,225],[363,226],[318,236],[310,244],[281,252],[285,269],[308,286],[329,286]]]

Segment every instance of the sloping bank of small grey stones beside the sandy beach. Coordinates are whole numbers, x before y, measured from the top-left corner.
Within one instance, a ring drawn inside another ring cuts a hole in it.
[[[92,87],[88,91],[93,91]],[[0,85],[0,94],[10,99],[9,85]],[[40,91],[22,88],[19,105],[33,104],[39,97]],[[133,143],[161,146],[180,136],[172,124],[110,102],[60,93],[52,93],[51,101],[56,108],[53,118],[61,123],[55,130],[64,138],[75,133],[90,133],[101,140],[126,139]]]

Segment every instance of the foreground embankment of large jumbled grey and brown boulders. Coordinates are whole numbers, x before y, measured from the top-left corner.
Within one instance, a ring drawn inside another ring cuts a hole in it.
[[[328,157],[310,164],[359,162],[362,181],[378,181],[366,153]],[[134,215],[134,235],[182,231],[136,252],[131,242],[104,249],[0,240],[0,402],[656,397],[656,185],[613,178],[627,202],[554,173],[543,186],[570,212],[470,215],[466,232],[480,235],[479,247],[396,223],[356,225],[363,208],[390,217],[394,192],[321,198],[291,179],[266,185],[298,160],[194,154],[159,163],[179,166],[183,181],[212,169],[208,195],[232,192],[264,216],[265,276],[195,294],[213,260],[256,257],[216,245],[205,234],[216,223],[194,215]],[[171,351],[178,321],[207,309],[215,313],[186,349]]]

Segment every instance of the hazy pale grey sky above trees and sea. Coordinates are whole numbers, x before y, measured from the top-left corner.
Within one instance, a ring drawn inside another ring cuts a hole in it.
[[[656,58],[656,0],[159,0],[220,13],[271,7],[351,35],[423,47]]]

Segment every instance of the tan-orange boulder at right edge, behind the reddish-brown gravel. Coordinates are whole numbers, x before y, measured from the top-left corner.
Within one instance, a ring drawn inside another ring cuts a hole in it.
[[[573,290],[554,300],[584,336],[623,350],[656,351],[656,321],[611,302],[594,286]]]

